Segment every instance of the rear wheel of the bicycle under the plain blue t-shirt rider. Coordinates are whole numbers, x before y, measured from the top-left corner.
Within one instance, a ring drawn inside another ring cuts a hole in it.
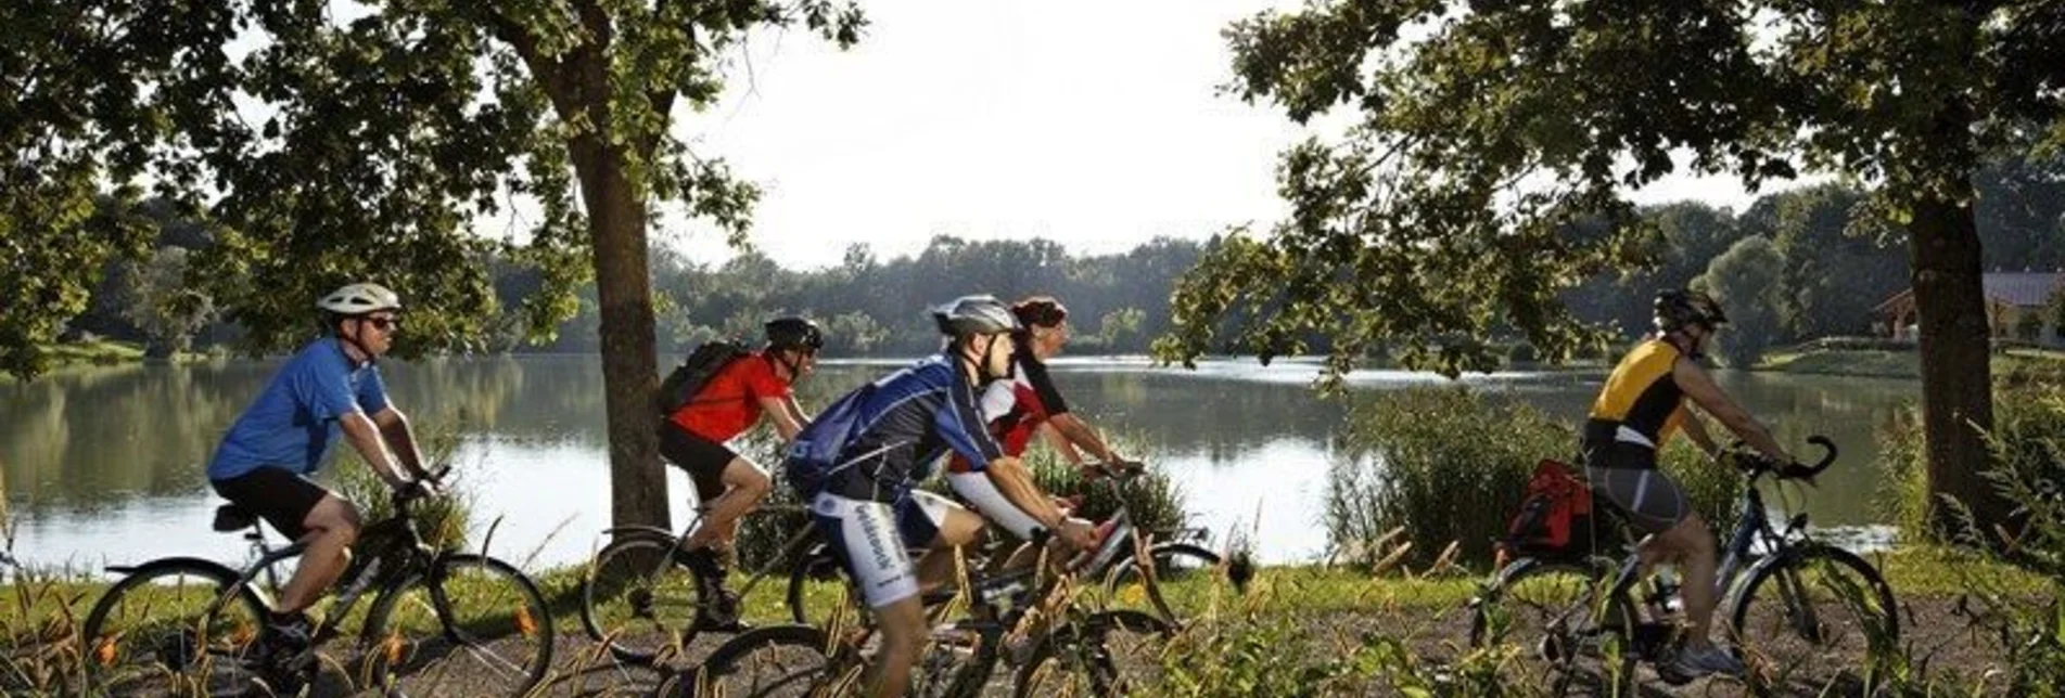
[[[167,578],[176,578],[173,584],[157,589],[153,599],[140,599],[142,607],[136,609],[136,622],[149,626],[122,628],[130,615],[124,601],[147,591],[147,584]],[[194,582],[188,584],[184,578],[192,578]],[[93,611],[87,613],[87,622],[81,626],[81,638],[87,642],[83,661],[87,669],[85,679],[91,690],[109,696],[173,696],[194,688],[209,696],[273,692],[260,686],[264,681],[262,671],[252,667],[252,651],[264,628],[268,605],[248,584],[235,586],[237,580],[237,572],[198,558],[165,558],[130,570],[93,603]],[[233,586],[235,599],[215,609],[204,622],[198,617],[167,620],[163,613],[167,599],[198,601],[198,613],[206,613],[209,605],[215,605]],[[151,634],[138,638],[138,630],[149,630]],[[219,648],[202,648],[211,644],[211,632],[221,634],[227,642]],[[206,659],[209,655],[219,657]],[[130,671],[116,671],[128,657],[149,661],[157,669],[134,675]],[[196,669],[206,673],[206,677],[198,679],[198,686],[190,684]],[[217,669],[225,673],[217,677]],[[155,679],[163,679],[169,686],[155,688]]]

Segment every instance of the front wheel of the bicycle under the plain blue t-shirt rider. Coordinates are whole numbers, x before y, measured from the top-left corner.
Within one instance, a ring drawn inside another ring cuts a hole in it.
[[[510,564],[442,556],[374,601],[361,648],[366,684],[390,692],[522,696],[551,665],[551,613]]]

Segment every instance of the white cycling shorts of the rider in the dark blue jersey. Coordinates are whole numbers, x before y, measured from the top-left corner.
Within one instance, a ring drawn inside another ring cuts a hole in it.
[[[942,496],[915,489],[896,502],[824,491],[809,502],[809,518],[855,586],[861,586],[867,607],[880,609],[917,595],[911,549],[929,547],[946,516],[958,508]]]

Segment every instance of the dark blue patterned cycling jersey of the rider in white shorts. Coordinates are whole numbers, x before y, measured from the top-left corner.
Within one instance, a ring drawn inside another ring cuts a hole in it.
[[[828,405],[789,448],[789,483],[805,500],[832,491],[894,502],[931,477],[946,450],[973,471],[1004,454],[952,357],[933,355]]]

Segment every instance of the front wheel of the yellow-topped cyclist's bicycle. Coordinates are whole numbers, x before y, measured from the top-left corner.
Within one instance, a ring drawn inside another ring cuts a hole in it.
[[[1894,589],[1863,558],[1825,545],[1751,568],[1728,620],[1757,694],[1861,692],[1875,659],[1900,644]]]

